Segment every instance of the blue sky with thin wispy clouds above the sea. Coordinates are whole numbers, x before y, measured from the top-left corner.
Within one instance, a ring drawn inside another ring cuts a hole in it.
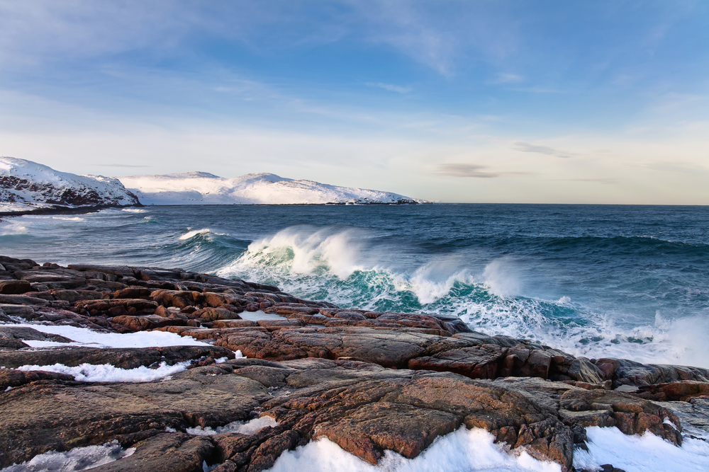
[[[709,1],[0,0],[0,155],[709,205]]]

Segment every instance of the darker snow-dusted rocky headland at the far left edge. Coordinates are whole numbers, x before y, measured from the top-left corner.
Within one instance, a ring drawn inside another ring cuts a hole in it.
[[[140,205],[116,178],[59,172],[25,159],[0,157],[0,212],[53,207]]]

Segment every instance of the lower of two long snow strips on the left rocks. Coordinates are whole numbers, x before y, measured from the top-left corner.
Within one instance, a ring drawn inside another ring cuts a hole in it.
[[[23,365],[16,369],[57,372],[71,375],[74,380],[82,382],[150,382],[182,372],[190,364],[191,361],[178,362],[174,365],[167,365],[167,362],[161,362],[157,369],[150,369],[145,366],[135,367],[135,369],[120,369],[113,367],[111,364],[80,364],[77,367],[67,367],[64,364]]]

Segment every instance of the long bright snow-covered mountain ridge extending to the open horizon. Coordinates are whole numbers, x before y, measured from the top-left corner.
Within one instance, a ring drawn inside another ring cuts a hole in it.
[[[119,177],[143,205],[425,203],[391,192],[293,180],[272,173],[221,178],[206,172]]]

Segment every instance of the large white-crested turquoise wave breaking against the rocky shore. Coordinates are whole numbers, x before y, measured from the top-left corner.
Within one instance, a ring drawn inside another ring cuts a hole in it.
[[[706,316],[643,319],[574,300],[571,293],[529,294],[536,287],[523,274],[525,261],[510,255],[489,260],[482,270],[465,267],[466,255],[456,253],[401,270],[384,261],[405,255],[381,241],[370,244],[371,236],[291,227],[250,243],[216,274],[275,284],[299,297],[349,308],[459,316],[474,330],[535,340],[573,355],[709,367]],[[696,336],[686,335],[688,325]]]

